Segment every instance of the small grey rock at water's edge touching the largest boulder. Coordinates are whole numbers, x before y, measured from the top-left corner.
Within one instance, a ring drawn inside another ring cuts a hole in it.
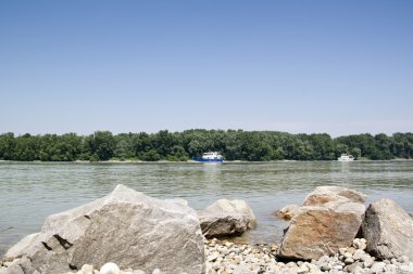
[[[205,237],[241,235],[256,224],[252,209],[243,200],[220,199],[198,211],[201,230]]]

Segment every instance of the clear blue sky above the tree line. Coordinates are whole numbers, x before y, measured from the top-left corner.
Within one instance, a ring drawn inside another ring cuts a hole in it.
[[[0,1],[0,132],[413,131],[413,1]]]

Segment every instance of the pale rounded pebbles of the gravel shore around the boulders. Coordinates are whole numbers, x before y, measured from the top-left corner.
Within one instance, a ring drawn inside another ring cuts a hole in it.
[[[333,257],[323,256],[318,260],[309,261],[280,261],[275,258],[277,245],[242,245],[227,240],[204,239],[205,273],[206,274],[304,274],[304,273],[393,273],[412,274],[413,262],[406,256],[391,260],[379,261],[364,250],[365,239],[356,238],[353,245],[341,248]],[[5,273],[5,262],[0,268],[0,274]],[[151,273],[141,270],[123,270],[100,272],[92,265],[85,264],[77,272],[66,274],[162,274],[157,269]],[[36,273],[38,274],[38,273]],[[184,274],[184,273],[180,273]],[[190,273],[187,273],[190,274]]]

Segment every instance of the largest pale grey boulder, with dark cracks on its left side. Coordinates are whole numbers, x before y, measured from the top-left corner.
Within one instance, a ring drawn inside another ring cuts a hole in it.
[[[108,196],[47,218],[41,231],[5,253],[9,273],[42,274],[102,266],[151,273],[203,273],[203,239],[195,210],[117,185]],[[13,271],[12,271],[13,270]],[[8,273],[8,272],[7,272]]]

